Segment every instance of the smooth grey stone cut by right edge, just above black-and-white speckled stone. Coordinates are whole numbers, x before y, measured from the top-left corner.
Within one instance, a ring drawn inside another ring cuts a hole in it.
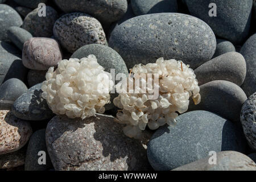
[[[241,48],[240,53],[245,57],[246,61],[246,77],[243,82],[242,89],[249,97],[256,92],[256,34],[252,35]]]

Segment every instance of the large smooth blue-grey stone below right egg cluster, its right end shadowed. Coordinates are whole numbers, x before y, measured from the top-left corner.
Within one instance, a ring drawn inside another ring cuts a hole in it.
[[[171,170],[205,158],[210,151],[244,152],[242,132],[230,121],[208,111],[179,115],[175,127],[160,127],[147,144],[155,170]]]

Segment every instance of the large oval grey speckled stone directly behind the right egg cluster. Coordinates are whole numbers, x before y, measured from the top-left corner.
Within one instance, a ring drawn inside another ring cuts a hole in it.
[[[159,57],[182,60],[196,68],[210,60],[216,38],[210,27],[190,15],[159,13],[126,20],[112,32],[109,47],[121,55],[127,68],[155,63]]]

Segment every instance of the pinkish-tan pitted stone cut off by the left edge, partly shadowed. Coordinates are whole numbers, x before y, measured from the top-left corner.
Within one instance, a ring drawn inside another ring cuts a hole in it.
[[[10,110],[0,110],[0,155],[22,148],[30,138],[30,123],[16,118]]]

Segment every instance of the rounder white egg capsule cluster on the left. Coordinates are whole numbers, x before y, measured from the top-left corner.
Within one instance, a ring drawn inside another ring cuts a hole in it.
[[[71,58],[61,60],[55,71],[49,68],[42,97],[53,113],[84,119],[96,112],[104,113],[113,85],[110,73],[97,63],[96,56]]]

